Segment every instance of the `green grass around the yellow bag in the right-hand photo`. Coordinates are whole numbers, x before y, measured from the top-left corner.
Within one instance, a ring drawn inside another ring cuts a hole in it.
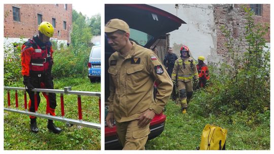
[[[195,95],[192,99],[195,99]],[[228,150],[270,149],[270,117],[266,116],[265,122],[261,125],[233,123],[224,115],[210,114],[207,118],[200,116],[197,110],[199,105],[198,102],[190,102],[188,112],[182,114],[179,105],[168,101],[165,111],[165,129],[160,136],[147,142],[146,149],[195,150],[200,144],[202,129],[206,124],[228,130],[226,138],[226,149]],[[244,119],[243,117],[237,118]]]

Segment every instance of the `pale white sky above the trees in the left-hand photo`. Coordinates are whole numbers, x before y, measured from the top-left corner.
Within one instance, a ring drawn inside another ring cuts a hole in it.
[[[104,6],[99,3],[92,3],[92,5],[86,3],[72,3],[72,5],[74,10],[76,10],[78,13],[82,12],[82,14],[86,15],[87,17],[91,17],[98,13],[101,14],[101,11],[103,10],[101,7]]]

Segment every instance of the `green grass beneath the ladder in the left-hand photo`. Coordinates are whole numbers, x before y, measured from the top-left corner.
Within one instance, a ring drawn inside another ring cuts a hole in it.
[[[14,87],[23,87],[22,81],[13,85]],[[72,86],[72,90],[100,92],[100,83],[90,83],[87,78],[66,78],[54,80],[55,89]],[[5,92],[5,104],[7,99]],[[60,95],[57,94],[56,115],[60,116]],[[24,110],[23,93],[18,92],[19,109]],[[82,111],[83,121],[99,123],[99,107],[97,97],[83,96]],[[15,96],[11,91],[11,104],[15,108]],[[77,96],[64,95],[65,117],[78,119]],[[46,100],[41,96],[39,113],[46,112]],[[63,132],[56,135],[47,129],[46,119],[37,119],[39,132],[37,134],[30,132],[29,118],[27,115],[4,112],[4,149],[5,150],[96,150],[100,149],[100,130],[77,127],[66,127],[62,122],[54,122]]]

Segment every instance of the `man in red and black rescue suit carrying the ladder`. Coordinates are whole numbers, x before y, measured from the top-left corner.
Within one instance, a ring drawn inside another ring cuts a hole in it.
[[[51,68],[53,65],[50,37],[53,36],[54,28],[49,22],[42,22],[39,25],[39,35],[33,36],[22,46],[21,65],[24,85],[29,95],[29,111],[35,112],[35,93],[34,88],[53,89],[53,81],[51,77]],[[49,93],[50,114],[55,115],[56,95]],[[40,104],[40,92],[37,92],[37,104]],[[39,129],[36,124],[36,117],[30,117],[30,130],[38,133]],[[60,133],[62,130],[53,124],[52,120],[48,120],[48,129],[53,133]]]

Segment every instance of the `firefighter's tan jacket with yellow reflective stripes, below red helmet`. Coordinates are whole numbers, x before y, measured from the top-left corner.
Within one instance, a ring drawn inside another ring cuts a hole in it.
[[[178,73],[178,77],[177,77],[178,81],[184,81],[184,82],[192,81],[193,75],[195,79],[199,78],[195,61],[191,57],[187,59],[178,58],[175,61],[173,72],[172,72],[172,80],[176,80],[177,73]]]

